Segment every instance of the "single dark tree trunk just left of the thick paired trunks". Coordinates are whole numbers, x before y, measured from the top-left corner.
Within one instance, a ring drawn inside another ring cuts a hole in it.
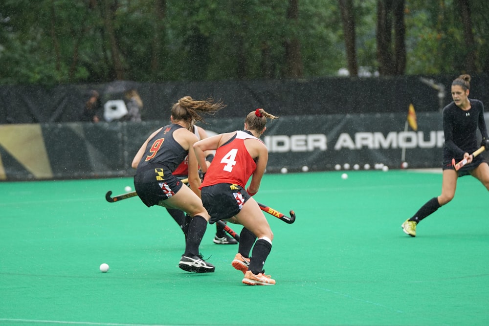
[[[350,76],[358,75],[358,65],[356,64],[355,47],[355,15],[353,0],[338,0],[341,10],[341,20],[343,22],[343,36],[345,38],[346,60]]]

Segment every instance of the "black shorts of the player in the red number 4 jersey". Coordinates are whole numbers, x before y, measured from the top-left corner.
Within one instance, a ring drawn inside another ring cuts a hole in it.
[[[202,204],[211,217],[210,224],[235,216],[251,198],[243,187],[230,183],[203,187],[201,197]]]

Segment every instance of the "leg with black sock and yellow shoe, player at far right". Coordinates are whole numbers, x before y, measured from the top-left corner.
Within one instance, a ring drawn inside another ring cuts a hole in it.
[[[401,227],[404,233],[411,237],[416,237],[416,226],[418,223],[453,199],[457,187],[457,178],[458,174],[455,170],[443,170],[442,194],[428,200],[411,218],[402,223]]]

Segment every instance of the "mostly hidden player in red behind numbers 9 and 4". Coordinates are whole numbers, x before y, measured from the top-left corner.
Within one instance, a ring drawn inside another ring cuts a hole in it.
[[[207,132],[203,128],[200,128],[196,126],[195,124],[192,127],[192,131],[196,136],[197,139],[205,139],[208,137]],[[205,164],[209,166],[212,162],[212,159],[214,158],[214,152],[213,151],[207,151],[205,152]],[[174,175],[176,175],[179,179],[187,178],[188,177],[188,155],[185,157],[183,162],[178,165],[178,167],[175,169],[173,172]],[[187,237],[187,230],[188,230],[188,225],[192,218],[185,214],[184,212],[180,211],[179,209],[176,208],[167,208],[166,209],[168,213],[173,217],[173,219],[178,223],[180,228],[183,231],[183,234],[185,237]],[[216,235],[214,236],[213,239],[214,243],[216,244],[237,244],[238,241],[236,239],[228,236],[226,232],[224,231],[224,227],[221,226],[220,224],[216,224]]]

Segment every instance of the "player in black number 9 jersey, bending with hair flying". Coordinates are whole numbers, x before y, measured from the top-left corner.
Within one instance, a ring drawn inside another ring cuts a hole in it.
[[[185,253],[178,264],[178,267],[189,272],[214,272],[215,269],[199,254],[200,241],[210,217],[200,200],[199,166],[192,150],[198,139],[190,130],[194,121],[202,120],[199,112],[214,113],[223,107],[222,103],[211,100],[196,101],[190,96],[182,97],[172,107],[172,123],[153,132],[132,163],[136,169],[134,189],[146,206],[176,208],[192,217]],[[173,174],[187,155],[190,188]]]

